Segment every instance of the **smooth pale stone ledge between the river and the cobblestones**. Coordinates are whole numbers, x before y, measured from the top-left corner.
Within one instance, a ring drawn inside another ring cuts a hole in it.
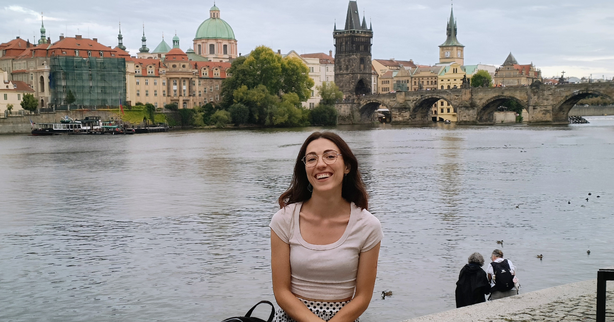
[[[489,322],[505,319],[505,316],[513,313],[520,313],[552,302],[586,295],[594,297],[596,290],[597,280],[587,280],[420,316],[403,322]]]

